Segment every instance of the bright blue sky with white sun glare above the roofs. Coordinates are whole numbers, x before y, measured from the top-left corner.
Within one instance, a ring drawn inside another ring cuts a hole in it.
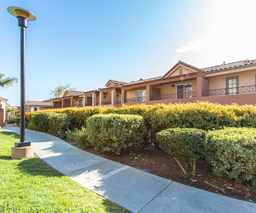
[[[0,0],[0,70],[20,78],[20,30],[7,7],[33,12],[26,29],[26,100],[71,84],[104,88],[164,75],[178,60],[198,68],[256,59],[255,0]],[[0,88],[19,106],[20,82]]]

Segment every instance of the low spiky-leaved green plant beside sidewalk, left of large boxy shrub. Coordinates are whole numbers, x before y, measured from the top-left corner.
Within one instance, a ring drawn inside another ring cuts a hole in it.
[[[73,131],[67,130],[66,133],[67,138],[76,141],[80,147],[87,148],[89,146],[88,135],[85,128],[82,128],[81,130],[75,129]]]

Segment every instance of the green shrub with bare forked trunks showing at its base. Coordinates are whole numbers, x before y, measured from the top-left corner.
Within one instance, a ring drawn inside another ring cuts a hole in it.
[[[195,162],[204,156],[206,137],[204,130],[174,128],[158,132],[157,142],[160,149],[175,158],[185,174],[186,170],[181,162],[190,164],[193,168],[192,175],[195,175]],[[188,163],[186,159],[189,159]]]

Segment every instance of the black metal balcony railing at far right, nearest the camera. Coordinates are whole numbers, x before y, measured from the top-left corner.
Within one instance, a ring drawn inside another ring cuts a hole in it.
[[[202,91],[202,96],[235,95],[235,94],[246,93],[246,92],[256,92],[256,85],[204,90]]]

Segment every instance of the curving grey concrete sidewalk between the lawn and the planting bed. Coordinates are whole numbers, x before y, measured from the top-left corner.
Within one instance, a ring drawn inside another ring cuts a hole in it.
[[[18,127],[3,130],[20,133]],[[256,213],[256,204],[145,173],[79,150],[43,132],[26,130],[26,140],[51,167],[134,213]]]

